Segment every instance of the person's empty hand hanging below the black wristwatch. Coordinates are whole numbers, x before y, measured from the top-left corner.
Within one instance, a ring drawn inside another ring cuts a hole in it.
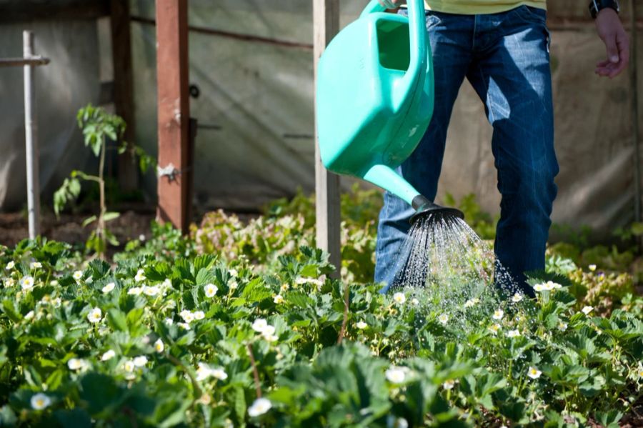
[[[612,79],[623,71],[629,62],[629,38],[614,9],[606,8],[599,11],[596,29],[607,48],[607,59],[596,64],[594,73]]]

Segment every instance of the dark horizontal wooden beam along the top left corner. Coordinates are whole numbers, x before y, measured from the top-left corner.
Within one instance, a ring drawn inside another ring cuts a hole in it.
[[[0,4],[0,24],[97,19],[109,15],[109,0],[18,0]]]

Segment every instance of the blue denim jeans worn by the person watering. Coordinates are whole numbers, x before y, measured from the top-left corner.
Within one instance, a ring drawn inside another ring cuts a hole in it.
[[[484,15],[427,11],[435,77],[434,113],[417,149],[398,169],[420,193],[434,200],[447,126],[466,77],[494,129],[492,152],[502,195],[494,251],[529,295],[533,291],[524,282],[524,272],[544,268],[549,215],[557,194],[546,16],[544,10],[529,6]],[[396,273],[399,248],[413,213],[402,199],[384,194],[375,268],[375,281],[386,284],[382,292],[390,287]]]

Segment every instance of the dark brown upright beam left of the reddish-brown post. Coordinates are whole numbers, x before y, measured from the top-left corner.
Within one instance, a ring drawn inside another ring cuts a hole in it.
[[[125,141],[134,144],[134,78],[131,70],[131,31],[129,26],[129,0],[110,0],[111,58],[114,64],[114,109],[127,127]],[[119,186],[124,191],[139,187],[136,156],[126,151],[119,159]]]

